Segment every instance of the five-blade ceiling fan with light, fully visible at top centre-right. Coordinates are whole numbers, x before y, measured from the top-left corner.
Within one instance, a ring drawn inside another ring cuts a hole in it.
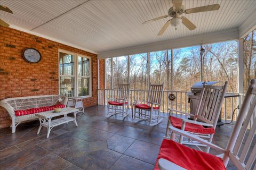
[[[205,12],[205,11],[215,11],[219,10],[220,5],[219,4],[213,4],[213,5],[206,5],[206,6],[200,6],[195,8],[190,8],[185,10],[184,5],[182,5],[182,0],[173,0],[172,1],[172,7],[168,10],[168,14],[164,16],[159,16],[157,18],[148,20],[143,22],[142,24],[146,24],[149,22],[153,22],[156,20],[161,20],[164,18],[167,18],[168,16],[172,17],[172,19],[168,20],[162,29],[158,32],[158,36],[163,35],[164,31],[169,27],[169,25],[172,25],[173,27],[176,27],[178,24],[182,23],[185,25],[190,31],[196,29],[196,25],[194,25],[191,21],[189,21],[185,16],[180,16],[181,14],[191,14],[191,13],[197,13],[197,12]],[[175,28],[177,29],[177,28]]]

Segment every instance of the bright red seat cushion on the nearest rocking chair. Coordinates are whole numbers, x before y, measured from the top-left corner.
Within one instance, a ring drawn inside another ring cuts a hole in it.
[[[226,170],[221,158],[185,145],[164,139],[159,150],[154,170],[158,170],[158,160],[164,158],[188,170]]]

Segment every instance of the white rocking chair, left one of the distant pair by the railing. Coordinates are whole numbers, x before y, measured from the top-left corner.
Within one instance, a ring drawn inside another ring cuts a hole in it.
[[[107,118],[116,114],[122,114],[124,120],[124,118],[128,115],[129,98],[130,84],[119,84],[117,98],[108,98]]]

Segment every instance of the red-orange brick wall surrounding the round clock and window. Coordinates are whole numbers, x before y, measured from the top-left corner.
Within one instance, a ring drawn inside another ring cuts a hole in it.
[[[22,58],[26,47],[36,48],[42,60],[36,64]],[[92,97],[84,100],[84,106],[98,103],[97,55],[0,26],[0,100],[10,97],[50,95],[59,93],[58,49],[69,50],[92,57]],[[0,128],[11,124],[9,114],[0,107]]]

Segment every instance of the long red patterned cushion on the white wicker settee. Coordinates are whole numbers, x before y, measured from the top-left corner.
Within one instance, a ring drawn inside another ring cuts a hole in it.
[[[25,110],[18,110],[14,111],[16,116],[23,116],[23,115],[30,115],[30,114],[35,114],[35,113],[40,113],[40,112],[45,112],[45,111],[52,111],[54,108],[63,108],[65,105],[63,104],[57,104],[53,106],[43,106],[43,107],[36,107],[36,108],[29,108]]]

